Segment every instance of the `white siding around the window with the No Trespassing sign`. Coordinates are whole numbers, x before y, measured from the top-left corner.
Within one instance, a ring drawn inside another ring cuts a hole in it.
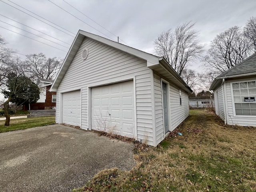
[[[239,82],[243,81],[250,81],[250,80],[256,80],[254,79],[240,79],[236,80]],[[234,113],[234,100],[232,98],[232,90],[231,90],[231,83],[233,81],[227,81],[226,82],[226,97],[227,97],[227,123],[230,125],[240,125],[240,126],[256,126],[256,116],[241,116],[236,115]]]

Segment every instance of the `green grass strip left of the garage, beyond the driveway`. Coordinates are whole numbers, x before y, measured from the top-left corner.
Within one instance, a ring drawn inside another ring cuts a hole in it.
[[[55,123],[55,116],[11,119],[10,126],[4,126],[4,122],[0,121],[0,133],[51,125]]]

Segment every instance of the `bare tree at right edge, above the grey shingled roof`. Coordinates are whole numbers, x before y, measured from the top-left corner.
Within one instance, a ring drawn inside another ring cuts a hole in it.
[[[256,52],[256,17],[251,17],[244,27],[244,35],[250,41],[253,52]]]

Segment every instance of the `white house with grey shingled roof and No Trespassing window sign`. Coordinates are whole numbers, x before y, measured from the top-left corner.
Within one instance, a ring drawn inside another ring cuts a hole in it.
[[[256,126],[256,54],[216,77],[210,90],[225,124]]]

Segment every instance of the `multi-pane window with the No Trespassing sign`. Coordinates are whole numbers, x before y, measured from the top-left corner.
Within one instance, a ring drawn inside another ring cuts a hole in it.
[[[256,82],[232,83],[236,115],[256,116]]]

